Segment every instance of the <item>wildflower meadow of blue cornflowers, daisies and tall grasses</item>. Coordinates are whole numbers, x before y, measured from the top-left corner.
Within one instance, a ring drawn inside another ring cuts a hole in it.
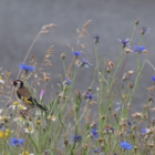
[[[45,52],[42,62],[37,61],[37,55],[28,59],[40,35],[59,29],[52,23],[42,27],[24,60],[19,63],[17,80],[24,83],[44,110],[22,105],[18,101],[11,72],[0,70],[3,105],[0,108],[0,155],[155,155],[155,118],[152,118],[155,113],[155,68],[147,60],[148,50],[143,42],[151,30],[141,27],[136,20],[131,37],[116,40],[120,49],[113,51],[117,56],[113,62],[105,52],[99,55],[97,49],[103,40],[100,34],[89,34],[91,22],[89,20],[82,30],[75,31],[76,46],[68,44],[72,55],[70,62],[68,60],[70,65],[66,65],[66,53],[54,54],[54,44]],[[141,38],[133,44],[135,32],[140,32]],[[83,38],[93,40],[94,58],[86,56]],[[126,71],[132,54],[137,58],[136,66]],[[146,58],[143,61],[142,55]],[[52,95],[45,102],[46,85],[52,85],[53,81],[50,71],[44,69],[56,68],[52,64],[55,56],[61,56],[59,65],[63,72],[58,76],[59,89],[51,87]],[[148,97],[144,101],[145,106],[142,105],[143,111],[133,113],[133,100],[146,63],[153,69],[153,74],[148,75],[152,85],[145,90]],[[83,86],[85,91],[76,85],[83,78],[81,70],[93,73],[90,85]]]

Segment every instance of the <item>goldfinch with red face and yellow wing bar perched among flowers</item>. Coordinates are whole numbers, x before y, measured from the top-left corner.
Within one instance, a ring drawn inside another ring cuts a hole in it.
[[[48,111],[45,107],[39,104],[35,99],[32,97],[31,93],[24,86],[24,83],[21,80],[14,80],[13,86],[16,87],[17,97],[20,104],[24,105],[29,110],[37,106],[43,111]]]

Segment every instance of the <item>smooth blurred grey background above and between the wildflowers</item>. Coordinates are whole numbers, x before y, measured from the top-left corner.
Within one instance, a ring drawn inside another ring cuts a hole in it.
[[[64,76],[61,53],[66,54],[66,64],[72,58],[72,51],[66,43],[75,46],[78,41],[76,29],[82,29],[87,20],[92,20],[87,28],[89,35],[81,42],[86,43],[83,50],[85,58],[94,56],[94,35],[100,35],[99,54],[105,54],[111,61],[116,62],[122,44],[117,39],[131,38],[134,22],[140,19],[132,46],[135,46],[141,38],[142,27],[151,29],[146,34],[143,45],[148,49],[149,54],[142,54],[155,65],[155,1],[154,0],[0,0],[0,66],[3,71],[12,71],[11,79],[17,78],[19,64],[23,61],[29,46],[38,32],[44,24],[54,23],[59,28],[42,34],[35,42],[25,64],[29,64],[31,55],[34,54],[42,62],[44,53],[50,45],[54,45],[53,66],[49,72],[52,80],[51,85],[60,82],[59,74]],[[95,60],[92,59],[93,64]],[[95,64],[94,64],[95,65]],[[131,53],[125,71],[136,68],[136,54]],[[78,87],[86,90],[93,79],[94,71],[82,70],[78,80]],[[136,92],[133,105],[135,111],[143,110],[148,97],[146,87],[153,84],[152,75],[155,74],[151,65],[146,64],[143,71],[141,87]],[[134,81],[134,76],[133,76]],[[51,90],[49,85],[49,90]],[[97,86],[97,85],[96,85]],[[51,92],[48,92],[50,94]],[[95,93],[95,90],[94,90]],[[46,96],[48,97],[48,96]]]

